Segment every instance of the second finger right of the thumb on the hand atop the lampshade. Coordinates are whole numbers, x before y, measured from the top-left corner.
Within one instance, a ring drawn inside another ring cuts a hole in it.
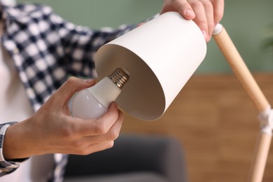
[[[214,6],[209,0],[201,0],[207,18],[207,29],[208,34],[206,37],[206,41],[209,41],[211,38],[212,31],[214,30]]]

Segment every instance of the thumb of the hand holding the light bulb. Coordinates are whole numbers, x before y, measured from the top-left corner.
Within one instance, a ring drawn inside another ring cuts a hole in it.
[[[54,99],[57,99],[58,102],[61,102],[61,104],[67,104],[73,94],[86,87],[91,87],[92,85],[94,85],[94,80],[83,80],[72,76],[59,87],[56,93],[53,94],[53,97]]]

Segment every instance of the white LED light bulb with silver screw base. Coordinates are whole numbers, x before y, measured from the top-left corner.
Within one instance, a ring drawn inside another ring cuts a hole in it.
[[[100,118],[108,111],[128,80],[129,72],[118,68],[92,87],[80,90],[71,101],[72,115],[84,119]]]

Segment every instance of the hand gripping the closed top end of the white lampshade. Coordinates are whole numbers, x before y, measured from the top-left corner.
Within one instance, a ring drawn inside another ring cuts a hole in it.
[[[193,20],[208,42],[214,27],[223,18],[224,0],[164,0],[161,13],[167,11],[176,11],[187,20]]]

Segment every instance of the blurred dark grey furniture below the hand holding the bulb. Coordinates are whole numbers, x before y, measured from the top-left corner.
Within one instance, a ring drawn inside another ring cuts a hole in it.
[[[122,134],[113,148],[69,155],[64,182],[185,182],[181,144],[171,137]]]

